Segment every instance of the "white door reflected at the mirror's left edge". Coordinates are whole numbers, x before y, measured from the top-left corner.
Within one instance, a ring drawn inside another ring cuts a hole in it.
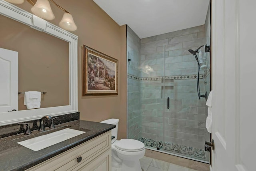
[[[0,48],[0,112],[18,110],[18,52]]]

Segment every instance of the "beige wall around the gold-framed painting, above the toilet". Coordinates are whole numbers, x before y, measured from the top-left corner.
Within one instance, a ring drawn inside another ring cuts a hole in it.
[[[55,0],[57,4],[68,10],[76,22],[78,29],[72,33],[78,36],[78,110],[80,119],[102,121],[104,119],[120,119],[118,139],[126,138],[126,26],[119,26],[92,0]],[[30,11],[30,4],[20,5]],[[58,25],[63,12],[52,5],[55,19],[50,21]],[[82,46],[98,50],[119,61],[118,95],[82,96]]]

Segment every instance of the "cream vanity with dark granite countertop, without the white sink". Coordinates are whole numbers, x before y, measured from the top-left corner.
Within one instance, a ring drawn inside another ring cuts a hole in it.
[[[111,129],[115,125],[76,120],[56,125],[56,128],[30,135],[18,134],[0,139],[0,170],[111,170]],[[39,151],[17,142],[46,135],[62,129],[85,133]]]

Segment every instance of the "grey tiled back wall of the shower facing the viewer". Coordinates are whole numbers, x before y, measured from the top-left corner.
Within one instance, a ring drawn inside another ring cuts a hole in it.
[[[144,38],[140,43],[141,137],[203,149],[206,101],[198,99],[198,64],[188,49],[206,44],[205,26]],[[159,76],[165,79],[156,80]],[[205,92],[202,78],[200,92]]]

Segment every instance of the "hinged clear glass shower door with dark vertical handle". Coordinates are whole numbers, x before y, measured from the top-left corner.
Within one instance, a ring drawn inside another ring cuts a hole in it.
[[[209,141],[210,135],[205,128],[206,99],[199,99],[197,93],[198,63],[188,50],[180,49],[177,54],[170,48],[173,46],[164,46],[164,151],[209,161],[209,153],[204,151],[204,141]],[[201,94],[210,86],[204,73],[200,70]]]

